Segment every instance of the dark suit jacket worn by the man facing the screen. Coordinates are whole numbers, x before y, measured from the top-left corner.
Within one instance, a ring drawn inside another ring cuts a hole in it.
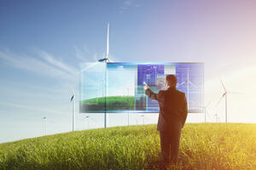
[[[145,92],[150,99],[155,99],[160,105],[157,130],[169,131],[174,127],[183,127],[188,116],[187,99],[183,92],[176,88],[160,90],[154,94],[150,88]]]

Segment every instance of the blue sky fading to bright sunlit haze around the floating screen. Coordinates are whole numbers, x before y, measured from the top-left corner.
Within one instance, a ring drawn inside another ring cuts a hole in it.
[[[72,92],[79,65],[106,54],[122,62],[204,62],[207,122],[256,123],[256,2],[253,0],[0,2],[0,143],[72,130]],[[103,126],[101,114],[79,114],[76,130]],[[217,116],[215,116],[217,115]],[[46,116],[47,119],[43,119]],[[85,118],[89,116],[89,118]],[[130,124],[157,114],[130,114]],[[127,114],[108,115],[108,127]],[[204,122],[189,114],[188,122]],[[90,126],[88,126],[88,123]]]

